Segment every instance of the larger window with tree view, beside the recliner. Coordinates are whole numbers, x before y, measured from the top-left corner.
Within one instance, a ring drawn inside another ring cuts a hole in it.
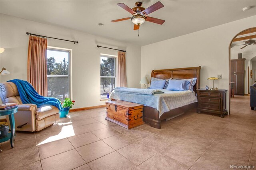
[[[47,48],[47,96],[70,98],[70,52]]]

